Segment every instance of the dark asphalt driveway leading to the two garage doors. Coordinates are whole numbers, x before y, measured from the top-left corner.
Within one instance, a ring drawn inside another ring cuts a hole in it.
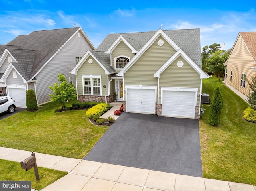
[[[202,177],[199,121],[124,112],[83,159]]]

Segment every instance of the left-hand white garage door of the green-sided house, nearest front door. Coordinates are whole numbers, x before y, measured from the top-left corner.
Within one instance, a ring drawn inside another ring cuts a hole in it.
[[[155,114],[155,96],[152,89],[127,89],[127,112]]]

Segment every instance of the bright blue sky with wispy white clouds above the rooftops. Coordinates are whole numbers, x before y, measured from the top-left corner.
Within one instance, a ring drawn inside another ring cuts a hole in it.
[[[0,44],[35,30],[81,26],[95,47],[110,33],[200,28],[201,49],[233,46],[239,32],[256,31],[256,2],[1,0]]]

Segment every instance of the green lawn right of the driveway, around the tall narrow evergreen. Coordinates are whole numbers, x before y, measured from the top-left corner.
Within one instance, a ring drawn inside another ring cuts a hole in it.
[[[202,93],[211,99],[217,83],[224,102],[221,123],[209,125],[207,104],[200,120],[203,176],[256,185],[256,124],[242,117],[249,105],[215,77],[203,80]]]

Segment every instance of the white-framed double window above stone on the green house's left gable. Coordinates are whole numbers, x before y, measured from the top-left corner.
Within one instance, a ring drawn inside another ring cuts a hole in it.
[[[101,95],[101,75],[82,75],[83,91],[88,95]]]

